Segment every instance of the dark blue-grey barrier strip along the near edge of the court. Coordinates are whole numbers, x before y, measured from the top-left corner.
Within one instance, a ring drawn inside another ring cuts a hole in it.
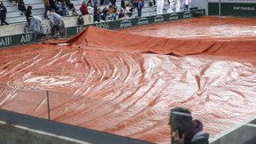
[[[28,127],[33,130],[38,130],[42,132],[50,132],[57,135],[65,136],[75,140],[83,140],[90,143],[97,144],[151,144],[151,142],[135,140],[128,137],[122,137],[114,134],[109,134],[105,132],[98,132],[94,130],[89,130],[81,127],[76,127],[68,124],[61,124],[54,121],[47,121],[42,118],[37,118],[34,116],[26,116],[19,113],[14,113],[4,109],[0,109],[0,120],[7,122],[8,124],[17,124],[21,126]],[[1,133],[2,136],[4,135]],[[5,133],[6,134],[6,133]],[[10,134],[10,133],[8,133]],[[28,132],[27,132],[28,134]],[[1,138],[1,137],[0,137]],[[12,137],[12,139],[19,137]],[[41,137],[38,134],[38,137],[33,138],[40,141]],[[19,139],[17,140],[19,141]],[[20,140],[20,143],[22,140]],[[41,140],[44,141],[44,140]],[[0,143],[2,144],[0,139]],[[18,142],[19,143],[19,142]]]

